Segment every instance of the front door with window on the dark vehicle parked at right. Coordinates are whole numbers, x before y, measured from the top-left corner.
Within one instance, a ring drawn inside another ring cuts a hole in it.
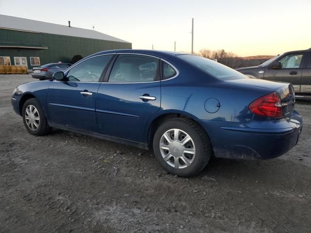
[[[267,67],[264,79],[276,82],[292,83],[295,92],[300,92],[300,78],[302,74],[302,60],[304,53],[289,53],[281,56],[277,62],[282,64],[281,69]]]

